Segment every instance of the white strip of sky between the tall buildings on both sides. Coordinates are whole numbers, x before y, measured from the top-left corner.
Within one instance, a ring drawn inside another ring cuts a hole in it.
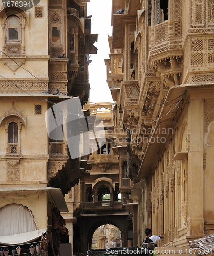
[[[87,16],[91,18],[91,34],[98,34],[94,43],[97,54],[92,54],[89,64],[90,102],[113,102],[106,82],[106,66],[104,59],[109,59],[108,35],[112,35],[111,27],[112,0],[90,0],[87,4]]]

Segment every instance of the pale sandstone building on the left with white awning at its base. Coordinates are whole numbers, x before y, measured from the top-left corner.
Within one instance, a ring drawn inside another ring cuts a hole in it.
[[[35,247],[43,233],[42,249],[58,255],[57,241],[68,243],[73,237],[73,205],[67,207],[64,195],[88,175],[88,167],[72,158],[65,139],[79,127],[62,130],[59,125],[50,137],[46,124],[58,122],[58,113],[47,123],[45,113],[70,96],[79,96],[80,109],[88,101],[86,61],[97,51],[97,35],[90,31],[87,0],[35,2],[0,4],[0,244],[32,241]],[[60,111],[60,122],[67,122],[71,113]],[[68,211],[65,219],[58,210]]]

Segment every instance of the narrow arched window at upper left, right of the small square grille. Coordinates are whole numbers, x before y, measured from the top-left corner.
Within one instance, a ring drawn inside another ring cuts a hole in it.
[[[61,19],[56,14],[51,18],[50,29],[51,29],[51,44],[61,45],[62,44]]]

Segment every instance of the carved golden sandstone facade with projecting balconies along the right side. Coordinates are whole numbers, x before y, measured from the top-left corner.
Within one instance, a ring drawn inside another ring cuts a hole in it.
[[[120,75],[110,90],[117,151],[127,154],[118,153],[119,168],[122,175],[126,161],[134,183],[127,200],[138,202],[133,240],[139,246],[148,227],[163,234],[158,246],[187,246],[214,233],[213,1],[129,0],[123,14],[112,3],[105,62],[123,53],[123,75],[108,73],[108,84]]]

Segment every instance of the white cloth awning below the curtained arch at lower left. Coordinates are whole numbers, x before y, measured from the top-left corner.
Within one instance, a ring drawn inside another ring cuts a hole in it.
[[[12,236],[1,236],[0,244],[5,245],[19,245],[27,242],[31,242],[42,236],[47,231],[47,228],[43,228],[40,230],[22,233],[22,234],[13,234]]]

